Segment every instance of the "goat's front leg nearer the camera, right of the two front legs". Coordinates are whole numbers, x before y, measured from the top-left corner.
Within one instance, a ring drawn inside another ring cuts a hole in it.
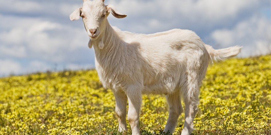
[[[141,89],[134,87],[129,87],[127,89],[128,97],[128,121],[131,125],[132,135],[140,135],[139,131],[139,113],[142,102]]]

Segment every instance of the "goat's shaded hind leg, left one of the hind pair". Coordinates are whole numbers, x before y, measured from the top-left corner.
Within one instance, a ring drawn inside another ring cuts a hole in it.
[[[176,90],[175,93],[166,95],[168,106],[169,106],[169,116],[164,132],[173,133],[176,125],[178,123],[178,118],[183,112],[183,107],[181,104],[180,90]]]

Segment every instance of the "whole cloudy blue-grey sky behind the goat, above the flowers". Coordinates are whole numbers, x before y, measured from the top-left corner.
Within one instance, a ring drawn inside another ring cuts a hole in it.
[[[195,31],[214,48],[243,46],[240,57],[271,52],[271,0],[105,0],[126,18],[111,25],[135,33]],[[69,15],[82,0],[1,0],[0,76],[94,67],[82,20]]]

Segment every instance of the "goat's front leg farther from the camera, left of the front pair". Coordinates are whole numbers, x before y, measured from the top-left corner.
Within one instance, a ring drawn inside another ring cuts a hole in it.
[[[119,120],[119,132],[127,130],[126,125],[126,104],[127,104],[127,96],[123,91],[114,91],[115,99],[116,99],[116,108],[115,112],[118,116]]]

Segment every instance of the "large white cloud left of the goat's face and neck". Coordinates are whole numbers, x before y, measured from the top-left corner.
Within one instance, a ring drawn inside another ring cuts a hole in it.
[[[6,16],[0,15],[0,18]],[[36,58],[52,62],[69,60],[68,52],[87,48],[88,37],[84,29],[39,18],[10,17],[13,25],[0,31],[2,55]],[[10,20],[3,20],[9,23]],[[83,27],[83,26],[82,26]]]

